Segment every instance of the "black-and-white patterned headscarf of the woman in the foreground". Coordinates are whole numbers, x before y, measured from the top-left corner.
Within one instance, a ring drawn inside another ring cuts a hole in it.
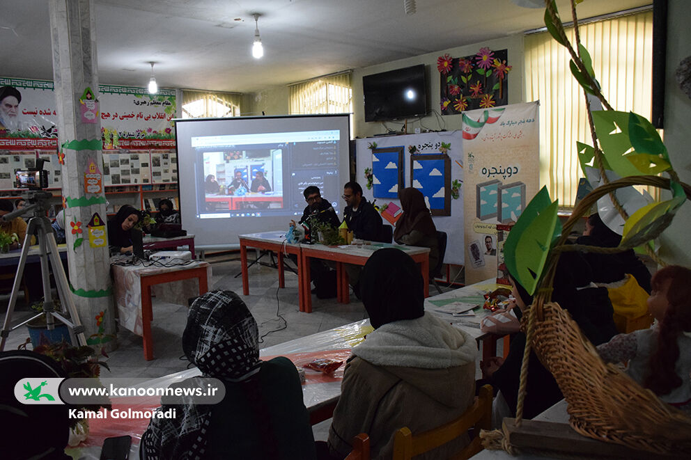
[[[245,381],[261,368],[258,335],[254,317],[238,294],[211,291],[189,308],[183,351],[203,376]],[[160,410],[166,409],[164,405]],[[212,406],[187,404],[177,409],[176,419],[151,419],[141,437],[147,459],[207,457]]]

